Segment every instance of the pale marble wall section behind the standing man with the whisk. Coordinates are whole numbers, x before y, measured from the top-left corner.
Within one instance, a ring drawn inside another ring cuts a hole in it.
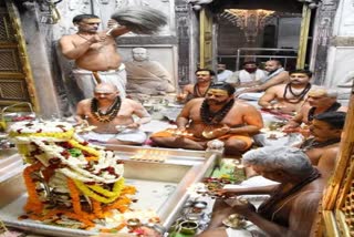
[[[44,115],[71,115],[80,97],[79,90],[70,80],[73,61],[64,59],[58,49],[58,40],[64,34],[76,32],[72,23],[73,17],[82,13],[98,16],[105,28],[111,14],[116,9],[132,6],[148,6],[163,11],[168,17],[168,24],[156,35],[136,35],[128,33],[117,38],[118,52],[123,62],[132,60],[132,49],[143,47],[148,50],[149,59],[160,62],[173,75],[174,84],[186,84],[190,80],[190,8],[184,0],[70,0],[61,1],[56,9],[61,14],[58,23],[45,22],[48,9],[38,2],[27,2],[21,11],[23,31],[31,53],[37,91],[41,112]],[[192,16],[194,17],[194,16]],[[42,21],[42,22],[41,22]],[[33,27],[28,27],[32,24]],[[191,66],[194,69],[195,66]],[[45,81],[51,90],[42,90]],[[55,93],[53,93],[53,91]],[[53,106],[54,105],[54,106]]]

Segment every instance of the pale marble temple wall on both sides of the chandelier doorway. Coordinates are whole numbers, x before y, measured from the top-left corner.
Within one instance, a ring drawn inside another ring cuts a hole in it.
[[[169,22],[158,35],[131,33],[121,37],[117,39],[118,51],[124,61],[129,61],[132,48],[145,47],[150,59],[160,62],[173,74],[175,85],[195,80],[199,55],[198,12],[192,11],[185,0],[62,1],[56,4],[61,13],[56,24],[43,21],[48,12],[38,2],[25,4],[21,22],[43,115],[70,115],[80,100],[75,84],[67,76],[73,62],[63,59],[56,47],[62,35],[76,32],[72,18],[80,13],[95,13],[105,25],[114,10],[124,6],[150,6],[162,10],[169,17]],[[345,86],[351,84],[354,74],[354,0],[323,0],[316,12],[311,60],[315,83],[331,87],[340,85],[337,89],[346,92]]]

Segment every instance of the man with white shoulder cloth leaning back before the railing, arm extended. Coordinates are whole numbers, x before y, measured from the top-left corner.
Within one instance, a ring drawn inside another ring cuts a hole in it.
[[[264,65],[264,70],[269,72],[269,74],[268,76],[262,78],[262,80],[260,80],[259,85],[240,90],[235,95],[238,97],[243,93],[263,92],[273,85],[287,83],[289,81],[289,73],[284,71],[279,60],[267,61]],[[240,99],[241,97],[242,96],[240,96]]]

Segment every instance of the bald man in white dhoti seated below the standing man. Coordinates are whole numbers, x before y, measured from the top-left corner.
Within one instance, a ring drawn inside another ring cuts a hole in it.
[[[131,99],[122,99],[117,87],[108,83],[96,85],[94,99],[79,102],[76,114],[79,124],[86,120],[90,125],[96,126],[94,132],[84,134],[84,138],[107,145],[144,143],[146,134],[138,128],[152,120],[142,104]],[[134,121],[133,115],[139,120]]]

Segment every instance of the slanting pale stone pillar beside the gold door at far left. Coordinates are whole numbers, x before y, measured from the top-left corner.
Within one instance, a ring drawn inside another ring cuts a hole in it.
[[[43,117],[60,116],[60,86],[53,80],[51,25],[39,23],[41,16],[35,3],[25,3],[20,9],[20,16],[38,95],[39,113]]]

